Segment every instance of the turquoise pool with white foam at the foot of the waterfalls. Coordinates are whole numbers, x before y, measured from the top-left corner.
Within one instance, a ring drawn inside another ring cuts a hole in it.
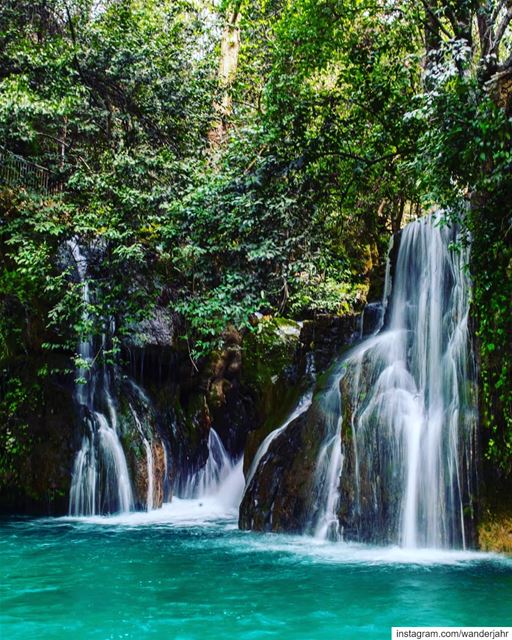
[[[0,637],[362,640],[512,623],[510,559],[241,532],[203,506],[0,521]]]

